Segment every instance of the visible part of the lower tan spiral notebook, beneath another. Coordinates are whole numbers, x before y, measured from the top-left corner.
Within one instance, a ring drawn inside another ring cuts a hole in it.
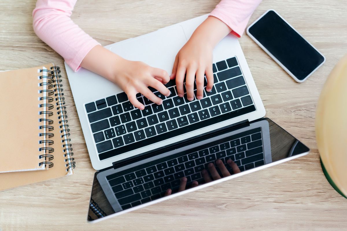
[[[68,121],[65,112],[66,108],[64,106],[64,95],[62,93],[62,87],[60,85],[61,82],[59,82],[61,81],[61,79],[59,78],[60,71],[56,71],[55,73],[53,73],[53,75],[50,74],[51,67],[53,66],[53,64],[44,65],[44,67],[46,67],[48,70],[48,75],[52,77],[54,86],[52,89],[49,89],[52,92],[48,92],[48,96],[54,99],[52,102],[50,102],[54,105],[54,108],[49,110],[50,112],[52,112],[52,115],[48,117],[48,119],[50,120],[49,126],[52,126],[54,128],[53,130],[49,131],[50,133],[54,133],[54,136],[49,138],[50,140],[54,141],[54,144],[49,144],[49,155],[54,156],[54,158],[48,160],[49,162],[53,163],[53,166],[46,171],[0,174],[0,190],[72,175],[74,173],[73,167],[75,166],[75,162],[73,161],[74,158],[72,157],[72,148],[68,138],[69,130],[67,128]],[[54,69],[56,68],[53,68],[53,70]]]

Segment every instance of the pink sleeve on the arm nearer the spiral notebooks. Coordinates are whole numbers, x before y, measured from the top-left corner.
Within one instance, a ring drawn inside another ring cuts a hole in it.
[[[39,38],[77,71],[86,54],[99,43],[70,19],[77,0],[37,0],[33,27]]]

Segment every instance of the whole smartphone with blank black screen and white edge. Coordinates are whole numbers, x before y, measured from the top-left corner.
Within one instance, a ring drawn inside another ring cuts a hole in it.
[[[255,20],[247,34],[296,82],[304,82],[325,62],[325,57],[274,10]]]

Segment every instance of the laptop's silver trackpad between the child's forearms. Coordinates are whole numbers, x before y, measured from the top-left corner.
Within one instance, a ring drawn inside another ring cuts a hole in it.
[[[123,58],[166,70],[170,75],[177,52],[186,42],[183,27],[175,25],[125,40],[110,50]]]

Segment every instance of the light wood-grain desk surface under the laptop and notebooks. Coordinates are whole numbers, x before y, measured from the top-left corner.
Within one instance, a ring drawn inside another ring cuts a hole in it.
[[[98,2],[98,3],[94,3]],[[79,0],[73,20],[102,45],[149,33],[210,12],[218,0]],[[35,0],[0,2],[0,69],[63,59],[32,29]],[[319,93],[337,61],[347,53],[344,0],[264,1],[253,22],[276,9],[327,58],[298,84],[247,35],[240,39],[266,116],[311,148],[305,157],[242,176],[97,224],[87,224],[94,169],[64,77],[75,175],[0,192],[0,230],[346,230],[347,200],[325,179],[315,142]],[[54,28],[52,28],[54,30]],[[15,93],[15,89],[14,89]]]

